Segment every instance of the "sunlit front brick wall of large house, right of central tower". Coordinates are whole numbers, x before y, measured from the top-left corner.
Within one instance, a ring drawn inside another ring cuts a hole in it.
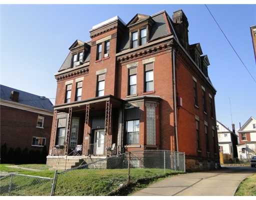
[[[143,59],[155,57],[154,61],[154,91],[143,92],[143,78],[144,66]],[[160,111],[158,113],[160,125],[156,136],[159,138],[160,149],[174,150],[174,130],[173,130],[173,92],[172,92],[172,69],[171,69],[171,55],[170,52],[160,52],[154,55],[145,56],[142,58],[132,59],[129,62],[123,62],[119,65],[118,71],[118,90],[117,97],[126,98],[128,86],[128,69],[127,64],[138,62],[137,66],[137,95],[159,95],[162,100],[160,101]],[[140,132],[144,132],[144,124],[140,125]],[[160,135],[160,136],[158,136]],[[144,142],[145,144],[145,142]]]

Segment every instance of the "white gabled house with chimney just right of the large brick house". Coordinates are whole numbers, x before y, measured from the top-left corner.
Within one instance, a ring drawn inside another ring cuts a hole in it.
[[[237,135],[235,134],[234,124],[232,130],[217,120],[218,147],[219,152],[224,155],[224,161],[231,161],[237,157]]]

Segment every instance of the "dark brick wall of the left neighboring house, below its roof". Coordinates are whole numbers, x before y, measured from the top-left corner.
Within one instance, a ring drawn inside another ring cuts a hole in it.
[[[0,105],[0,141],[7,148],[20,147],[41,150],[42,147],[31,146],[32,136],[46,137],[49,148],[52,116],[44,115],[44,128],[37,128],[38,113]],[[42,114],[43,115],[43,114]]]

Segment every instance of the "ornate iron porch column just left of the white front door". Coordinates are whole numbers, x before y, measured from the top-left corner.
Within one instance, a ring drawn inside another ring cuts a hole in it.
[[[84,119],[84,129],[83,129],[83,140],[82,140],[82,154],[87,155],[89,149],[89,110],[90,104],[85,105],[85,119]]]

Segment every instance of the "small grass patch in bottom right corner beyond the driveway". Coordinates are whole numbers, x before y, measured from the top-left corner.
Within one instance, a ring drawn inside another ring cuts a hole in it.
[[[256,196],[256,174],[253,174],[245,178],[238,189],[236,190],[235,196]]]

